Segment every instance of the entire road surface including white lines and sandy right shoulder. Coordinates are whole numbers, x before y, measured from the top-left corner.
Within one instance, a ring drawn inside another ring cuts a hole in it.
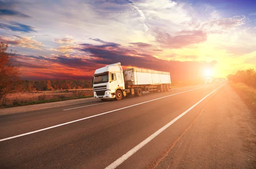
[[[224,83],[9,113],[0,168],[253,168],[250,119]]]

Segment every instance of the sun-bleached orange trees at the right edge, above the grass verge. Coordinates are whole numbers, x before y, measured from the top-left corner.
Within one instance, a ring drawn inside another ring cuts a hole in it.
[[[254,69],[239,70],[235,74],[230,74],[227,78],[235,83],[244,83],[256,88],[256,71]]]

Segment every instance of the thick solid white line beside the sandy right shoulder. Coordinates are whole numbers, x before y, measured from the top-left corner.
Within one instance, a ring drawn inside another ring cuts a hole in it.
[[[225,85],[225,84],[224,84]],[[223,86],[223,85],[221,85]],[[220,86],[220,87],[221,87]],[[160,128],[159,130],[157,130],[156,132],[154,132],[152,135],[150,135],[148,138],[146,138],[144,141],[142,141],[140,144],[138,144],[137,146],[135,146],[133,149],[131,149],[130,151],[126,152],[124,155],[122,155],[122,157],[118,158],[116,161],[114,161],[113,163],[111,163],[109,166],[107,166],[105,169],[115,169],[117,166],[119,166],[122,162],[124,162],[125,160],[127,160],[129,157],[131,157],[131,155],[133,155],[135,152],[137,152],[139,149],[141,149],[143,146],[145,146],[146,144],[148,144],[149,141],[151,141],[153,138],[155,138],[157,135],[159,135],[161,132],[163,132],[164,130],[166,130],[166,128],[168,128],[169,126],[171,126],[175,121],[177,121],[178,119],[180,119],[183,115],[185,115],[186,113],[188,113],[190,110],[192,110],[196,105],[198,105],[199,103],[201,103],[201,101],[203,101],[204,99],[206,99],[209,95],[211,95],[212,93],[214,93],[216,90],[218,90],[220,87],[218,87],[217,89],[213,90],[211,93],[209,93],[207,96],[205,96],[203,99],[201,99],[200,101],[198,101],[196,104],[194,104],[192,107],[190,107],[188,110],[186,110],[185,112],[181,113],[180,115],[178,115],[175,119],[173,119],[172,121],[170,121],[169,123],[167,123],[165,126],[163,126],[162,128]]]

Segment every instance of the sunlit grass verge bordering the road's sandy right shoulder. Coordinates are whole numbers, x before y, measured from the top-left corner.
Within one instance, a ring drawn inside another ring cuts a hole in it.
[[[241,99],[249,106],[252,110],[256,110],[256,89],[247,86],[243,83],[229,82],[230,86],[236,91]]]

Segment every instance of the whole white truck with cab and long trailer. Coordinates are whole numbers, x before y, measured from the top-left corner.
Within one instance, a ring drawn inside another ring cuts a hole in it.
[[[168,91],[171,85],[169,72],[128,68],[121,63],[107,65],[95,70],[93,93],[95,98],[121,100],[125,96],[142,96],[143,91]]]

